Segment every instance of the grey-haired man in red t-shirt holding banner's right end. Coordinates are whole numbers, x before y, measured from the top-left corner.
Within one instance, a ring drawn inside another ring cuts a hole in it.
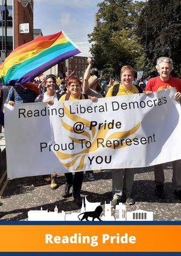
[[[170,73],[173,70],[173,61],[169,57],[159,57],[157,59],[156,70],[159,76],[148,80],[145,94],[150,95],[154,91],[160,91],[175,87],[177,92],[174,99],[181,101],[181,80],[177,77],[171,77]],[[155,194],[157,197],[164,199],[164,168],[163,165],[154,166],[154,180],[156,184]],[[173,186],[174,195],[181,200],[181,160],[173,162]]]

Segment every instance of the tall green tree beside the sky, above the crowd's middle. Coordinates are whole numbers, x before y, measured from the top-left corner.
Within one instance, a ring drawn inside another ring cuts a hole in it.
[[[89,42],[92,42],[90,53],[99,70],[108,66],[115,70],[116,76],[122,65],[138,67],[144,49],[135,30],[144,4],[133,0],[104,0],[98,4],[101,24],[89,34]],[[139,65],[143,67],[141,62]]]

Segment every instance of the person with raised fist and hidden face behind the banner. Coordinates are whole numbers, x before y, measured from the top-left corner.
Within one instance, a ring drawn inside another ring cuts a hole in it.
[[[98,76],[95,75],[95,74],[98,75],[98,71],[93,70],[92,72],[90,72],[92,67],[92,58],[88,57],[87,62],[88,62],[88,66],[83,77],[83,93],[89,96],[102,98],[103,95],[101,94],[101,80]],[[92,75],[90,76],[90,74]],[[90,181],[95,180],[93,170],[86,171],[86,176],[87,176],[87,179]]]

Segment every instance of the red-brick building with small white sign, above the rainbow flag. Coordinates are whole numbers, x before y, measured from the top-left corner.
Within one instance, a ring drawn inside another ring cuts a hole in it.
[[[21,0],[20,0],[21,1]],[[33,40],[33,5],[26,7],[17,0],[7,0],[7,55],[19,45]],[[0,0],[0,62],[5,58],[5,0]],[[20,31],[20,27],[27,28]],[[23,32],[23,33],[22,33]]]

